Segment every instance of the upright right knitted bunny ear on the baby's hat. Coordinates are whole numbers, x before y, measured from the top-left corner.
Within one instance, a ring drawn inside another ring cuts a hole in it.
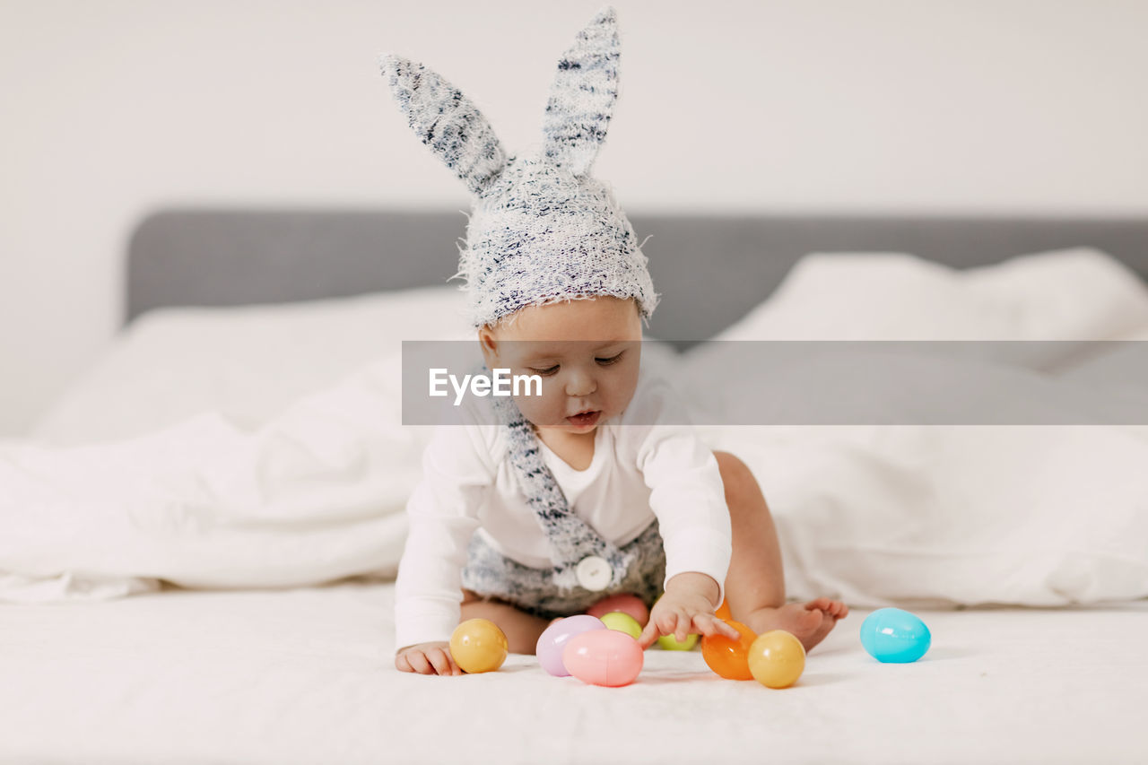
[[[581,176],[590,171],[618,100],[618,18],[598,11],[558,60],[542,125],[548,159]]]

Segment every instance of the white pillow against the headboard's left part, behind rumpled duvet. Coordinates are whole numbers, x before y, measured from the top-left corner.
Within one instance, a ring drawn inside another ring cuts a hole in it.
[[[256,427],[402,340],[473,337],[453,286],[354,298],[164,308],[138,317],[37,422],[56,446],[124,440],[216,411]]]

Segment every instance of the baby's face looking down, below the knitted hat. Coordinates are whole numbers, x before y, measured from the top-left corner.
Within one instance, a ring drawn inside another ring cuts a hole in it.
[[[509,326],[479,330],[479,343],[488,369],[542,378],[541,396],[514,397],[536,427],[591,433],[634,397],[642,319],[633,299],[598,295],[523,308]],[[573,417],[585,411],[597,414]]]

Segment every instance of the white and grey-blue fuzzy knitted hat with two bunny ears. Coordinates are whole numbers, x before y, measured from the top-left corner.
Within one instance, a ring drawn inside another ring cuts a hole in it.
[[[411,128],[473,194],[460,249],[475,329],[527,306],[634,298],[658,303],[647,258],[610,188],[590,176],[618,100],[618,21],[604,8],[558,60],[537,156],[507,156],[486,117],[420,63],[383,54]],[[512,319],[511,319],[512,320]]]

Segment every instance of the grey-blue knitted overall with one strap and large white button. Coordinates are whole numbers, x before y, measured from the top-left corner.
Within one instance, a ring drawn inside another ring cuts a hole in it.
[[[489,374],[486,364],[481,374]],[[550,569],[534,569],[506,558],[481,535],[471,539],[463,587],[487,597],[497,597],[545,618],[580,613],[615,593],[634,593],[646,605],[661,594],[666,554],[654,520],[628,544],[619,548],[603,538],[571,509],[550,468],[542,461],[538,438],[514,399],[490,396],[490,405],[506,427],[507,458],[534,510],[538,526],[550,542]],[[577,565],[588,556],[610,564],[610,584],[603,589],[583,587]]]

